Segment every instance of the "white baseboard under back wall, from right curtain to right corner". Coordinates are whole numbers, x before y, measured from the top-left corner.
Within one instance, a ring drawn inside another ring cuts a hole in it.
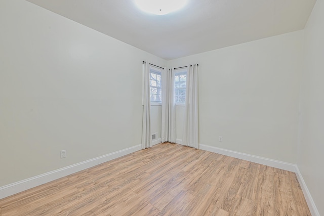
[[[248,160],[251,162],[260,163],[263,165],[272,166],[272,167],[279,168],[279,169],[285,169],[285,170],[293,171],[293,172],[296,171],[295,164],[282,162],[279,160],[273,160],[273,159],[269,159],[269,158],[265,158],[265,157],[231,151],[231,150],[222,149],[222,148],[218,148],[218,147],[214,147],[214,146],[208,146],[208,145],[204,145],[204,144],[199,144],[199,149],[205,150],[205,151],[210,151],[210,152],[215,152],[218,154],[223,154],[223,155],[230,156],[230,157],[235,157],[235,158],[242,159],[242,160]]]

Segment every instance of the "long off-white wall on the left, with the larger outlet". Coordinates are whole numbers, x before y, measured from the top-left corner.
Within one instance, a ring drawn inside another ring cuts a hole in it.
[[[142,61],[165,60],[24,0],[0,26],[0,187],[141,143]]]

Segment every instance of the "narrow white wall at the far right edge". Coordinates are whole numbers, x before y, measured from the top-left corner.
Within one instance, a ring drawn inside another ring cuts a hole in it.
[[[305,27],[297,165],[324,215],[324,1],[317,0]]]

